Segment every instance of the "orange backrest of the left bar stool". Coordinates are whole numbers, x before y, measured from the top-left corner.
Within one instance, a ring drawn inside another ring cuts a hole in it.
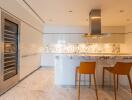
[[[80,74],[95,74],[96,62],[81,62],[79,67]]]

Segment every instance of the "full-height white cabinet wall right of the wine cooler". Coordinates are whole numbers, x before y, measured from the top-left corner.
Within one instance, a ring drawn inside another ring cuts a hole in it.
[[[42,33],[21,23],[20,44],[20,78],[23,78],[40,66]]]

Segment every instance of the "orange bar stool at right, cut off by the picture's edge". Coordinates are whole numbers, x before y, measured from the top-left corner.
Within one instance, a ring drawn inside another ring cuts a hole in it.
[[[131,67],[132,67],[132,63],[117,62],[114,67],[104,67],[103,68],[103,81],[102,81],[103,84],[102,84],[102,86],[104,87],[104,75],[105,75],[105,70],[107,70],[113,74],[115,100],[117,99],[116,88],[118,89],[118,82],[119,82],[118,76],[119,75],[127,75],[128,80],[129,80],[129,85],[131,88],[131,92],[132,92],[132,82],[131,82],[131,77],[130,77]],[[116,75],[117,75],[117,87],[116,87],[116,79],[115,79]]]

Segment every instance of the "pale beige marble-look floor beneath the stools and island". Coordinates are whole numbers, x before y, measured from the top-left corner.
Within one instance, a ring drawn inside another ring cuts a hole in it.
[[[75,88],[53,84],[53,70],[41,68],[0,97],[0,100],[76,100]],[[81,88],[81,100],[96,100],[94,87]],[[99,100],[114,100],[113,88],[99,88]],[[132,94],[120,89],[118,100],[132,100]]]

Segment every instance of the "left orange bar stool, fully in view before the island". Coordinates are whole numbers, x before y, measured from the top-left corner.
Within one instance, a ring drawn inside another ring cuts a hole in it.
[[[97,85],[96,85],[96,78],[95,78],[95,66],[96,66],[96,62],[81,62],[80,66],[76,67],[75,87],[77,85],[77,76],[79,76],[78,77],[78,100],[80,100],[81,74],[89,74],[90,75],[90,84],[91,84],[91,75],[94,76],[95,92],[96,92],[96,97],[98,100]]]

